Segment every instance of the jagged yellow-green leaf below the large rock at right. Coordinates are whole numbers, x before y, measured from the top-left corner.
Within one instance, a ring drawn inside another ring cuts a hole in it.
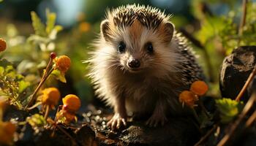
[[[229,123],[241,112],[243,102],[238,102],[232,99],[216,99],[216,106],[220,113],[222,123]]]

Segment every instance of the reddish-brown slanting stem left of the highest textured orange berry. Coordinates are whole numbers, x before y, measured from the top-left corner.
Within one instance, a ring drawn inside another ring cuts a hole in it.
[[[49,61],[49,63],[48,63],[48,66],[47,66],[46,69],[45,69],[45,73],[42,75],[42,79],[41,79],[41,81],[39,82],[39,85],[37,85],[37,88],[34,90],[34,93],[32,94],[31,99],[29,100],[29,104],[26,105],[26,108],[30,107],[31,104],[34,103],[35,99],[37,98],[37,92],[38,92],[39,89],[42,87],[42,85],[43,85],[43,83],[45,82],[45,80],[48,79],[50,73],[53,72],[54,69],[53,69],[53,68],[50,69],[51,64],[53,64],[53,59],[52,59],[52,58],[50,58],[50,61]],[[50,69],[50,71],[49,71],[49,69]]]

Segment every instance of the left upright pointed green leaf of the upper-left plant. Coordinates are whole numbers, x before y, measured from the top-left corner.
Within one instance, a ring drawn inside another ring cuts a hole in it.
[[[46,37],[47,34],[45,32],[45,25],[42,23],[41,19],[38,17],[36,12],[31,12],[31,19],[32,19],[32,24],[34,27],[35,34]]]

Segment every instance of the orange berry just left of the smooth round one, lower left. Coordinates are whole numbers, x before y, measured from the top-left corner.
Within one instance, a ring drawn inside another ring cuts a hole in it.
[[[45,88],[42,93],[42,104],[50,105],[53,109],[53,107],[58,104],[61,97],[59,90],[57,88]]]

